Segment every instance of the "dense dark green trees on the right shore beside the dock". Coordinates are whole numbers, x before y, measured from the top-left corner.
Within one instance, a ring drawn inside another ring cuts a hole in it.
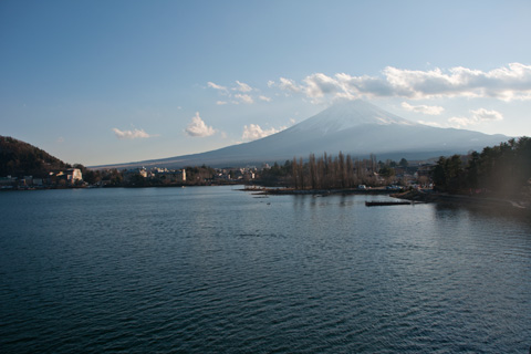
[[[521,194],[530,186],[531,138],[510,139],[466,157],[441,156],[431,177],[438,191],[489,191],[504,196]]]

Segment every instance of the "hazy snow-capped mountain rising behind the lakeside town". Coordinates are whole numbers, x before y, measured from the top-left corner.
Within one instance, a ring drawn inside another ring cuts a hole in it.
[[[285,131],[254,142],[202,154],[112,167],[242,166],[264,162],[283,163],[294,156],[305,158],[311,153],[317,156],[324,152],[335,155],[340,150],[353,157],[375,154],[378,159],[424,159],[466,154],[471,149],[481,150],[508,139],[508,136],[500,134],[487,135],[414,123],[357,100],[336,103]]]

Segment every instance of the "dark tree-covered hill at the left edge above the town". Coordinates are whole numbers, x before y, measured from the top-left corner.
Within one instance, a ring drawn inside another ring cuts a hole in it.
[[[45,177],[52,170],[71,167],[46,152],[9,136],[0,136],[0,177]]]

